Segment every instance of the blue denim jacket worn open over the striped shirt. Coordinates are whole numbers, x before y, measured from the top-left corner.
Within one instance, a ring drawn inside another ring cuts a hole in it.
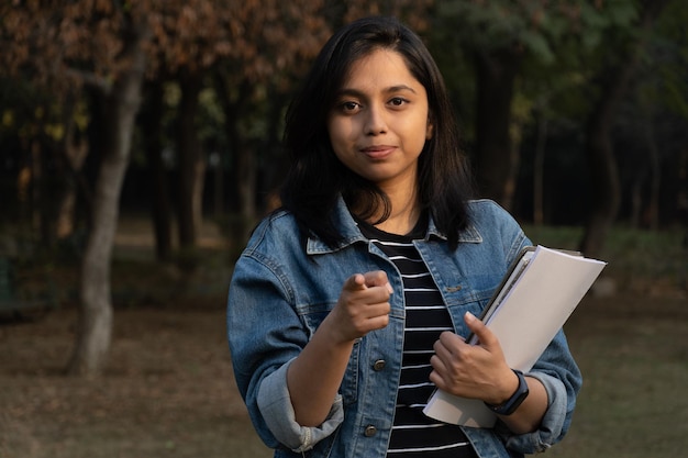
[[[465,312],[480,313],[512,259],[531,244],[495,202],[471,201],[469,214],[470,224],[455,252],[432,220],[425,238],[415,242],[462,336],[468,334]],[[386,456],[401,371],[406,315],[401,277],[362,235],[341,199],[335,217],[344,239],[331,248],[313,237],[303,242],[289,212],[271,214],[254,231],[232,277],[228,335],[234,375],[253,424],[265,444],[276,449],[275,457]],[[346,278],[370,270],[386,271],[396,291],[389,324],[355,343],[324,423],[300,426],[289,399],[287,368],[336,304]],[[548,395],[540,429],[513,435],[499,422],[493,428],[463,427],[480,457],[543,451],[568,429],[581,377],[562,331],[529,375],[544,384]]]

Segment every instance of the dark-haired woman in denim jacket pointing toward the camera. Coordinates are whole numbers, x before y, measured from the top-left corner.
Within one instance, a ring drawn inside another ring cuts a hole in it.
[[[406,26],[364,19],[325,44],[287,113],[282,208],[230,286],[236,382],[276,457],[522,456],[568,429],[581,378],[564,334],[521,375],[475,319],[530,241],[469,200],[458,143]],[[497,425],[426,417],[435,388],[482,400]]]

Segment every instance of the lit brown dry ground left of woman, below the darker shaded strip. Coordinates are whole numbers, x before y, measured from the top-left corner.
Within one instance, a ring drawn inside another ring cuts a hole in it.
[[[74,310],[0,327],[0,457],[266,456],[249,440],[219,308],[115,315],[98,380],[62,373]]]

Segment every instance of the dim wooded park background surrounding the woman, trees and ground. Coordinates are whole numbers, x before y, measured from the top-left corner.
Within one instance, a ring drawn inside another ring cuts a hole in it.
[[[688,11],[679,0],[0,4],[0,457],[267,457],[233,383],[232,265],[284,112],[341,24],[393,14],[445,76],[484,197],[609,261],[566,325],[548,455],[688,446]]]

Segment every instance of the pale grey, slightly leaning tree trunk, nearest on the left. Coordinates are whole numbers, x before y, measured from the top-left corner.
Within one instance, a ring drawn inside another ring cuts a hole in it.
[[[125,44],[131,66],[122,70],[104,99],[106,138],[96,182],[92,228],[81,266],[77,343],[68,372],[98,376],[102,372],[112,336],[110,265],[119,215],[119,199],[129,165],[134,120],[141,104],[146,57],[144,34],[132,34]]]

